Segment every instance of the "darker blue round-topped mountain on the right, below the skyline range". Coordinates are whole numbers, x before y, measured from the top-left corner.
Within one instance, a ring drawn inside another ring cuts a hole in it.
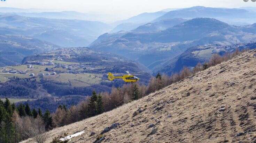
[[[106,33],[91,44],[91,48],[138,60],[147,68],[156,70],[166,59],[178,56],[193,46],[231,45],[253,39],[256,35],[242,27],[212,18],[195,18],[158,32]]]

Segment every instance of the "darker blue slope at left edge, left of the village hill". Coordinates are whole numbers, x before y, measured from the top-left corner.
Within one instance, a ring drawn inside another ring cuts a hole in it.
[[[60,48],[52,43],[20,35],[0,35],[0,66],[21,64],[25,56]]]

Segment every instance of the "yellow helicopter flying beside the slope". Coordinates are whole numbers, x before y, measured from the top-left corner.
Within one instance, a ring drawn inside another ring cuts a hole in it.
[[[122,77],[115,77],[111,72],[108,73],[108,79],[113,81],[114,79],[123,79],[125,83],[135,83],[139,78],[135,77],[134,75],[130,74],[129,71],[126,71],[127,74],[124,74]]]

